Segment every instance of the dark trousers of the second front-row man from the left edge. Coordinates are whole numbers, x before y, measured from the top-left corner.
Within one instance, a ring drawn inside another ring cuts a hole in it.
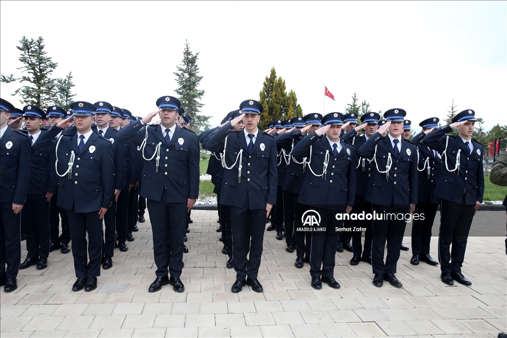
[[[107,210],[109,212],[109,209]],[[106,212],[106,214],[107,214]],[[72,254],[74,256],[74,269],[76,277],[88,278],[100,276],[100,252],[102,247],[102,220],[98,211],[80,212],[67,210],[72,237]],[[88,242],[86,235],[88,234]],[[87,250],[90,255],[88,261]]]

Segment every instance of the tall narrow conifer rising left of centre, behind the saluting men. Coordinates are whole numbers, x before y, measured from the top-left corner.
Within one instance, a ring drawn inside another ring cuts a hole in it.
[[[192,118],[190,129],[193,131],[204,131],[209,129],[210,125],[208,120],[210,116],[200,115],[203,103],[201,103],[204,90],[199,90],[197,87],[202,80],[199,76],[199,66],[197,60],[199,59],[199,52],[192,53],[189,43],[185,41],[185,50],[183,51],[183,59],[181,66],[177,67],[176,82],[178,88],[175,90],[178,94],[178,99],[182,102],[182,108],[185,109],[185,115]]]

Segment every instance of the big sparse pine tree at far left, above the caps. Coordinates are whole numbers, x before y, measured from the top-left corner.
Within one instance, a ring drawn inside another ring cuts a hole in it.
[[[58,89],[57,80],[51,78],[50,75],[58,63],[51,61],[51,57],[46,56],[42,36],[39,36],[37,40],[28,40],[23,36],[19,42],[21,46],[17,46],[17,49],[21,51],[19,61],[23,66],[17,69],[22,69],[22,72],[27,74],[20,78],[14,78],[13,74],[7,77],[2,75],[0,81],[5,83],[28,82],[28,85],[16,89],[12,94],[13,96],[20,94],[23,99],[20,100],[21,103],[39,107],[53,104]]]

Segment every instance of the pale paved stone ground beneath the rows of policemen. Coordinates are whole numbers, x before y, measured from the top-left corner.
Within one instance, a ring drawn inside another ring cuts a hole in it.
[[[502,237],[469,238],[463,274],[473,282],[470,287],[446,286],[439,267],[423,262],[412,266],[411,253],[402,251],[397,277],[404,288],[377,288],[371,283],[371,266],[349,266],[351,253],[344,251],[337,253],[335,268],[342,287],[335,290],[324,284],[314,290],[308,265],[295,268],[295,253],[285,252],[284,241],[267,232],[259,275],[264,293],[249,287],[232,293],[235,273],[225,268],[226,255],[215,232],[216,211],[193,211],[192,218],[184,293],[174,292],[170,285],[148,293],[155,267],[147,218],[129,250],[115,250],[113,268],[102,270],[92,292],[71,291],[71,253],[52,252],[46,270],[21,270],[18,289],[0,291],[0,335],[496,337],[507,330]],[[488,223],[503,227],[505,213],[479,211],[473,228]],[[404,243],[410,245],[410,238]],[[433,238],[433,257],[436,243]]]

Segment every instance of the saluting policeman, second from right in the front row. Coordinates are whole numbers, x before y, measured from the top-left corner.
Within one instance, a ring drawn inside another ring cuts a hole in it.
[[[360,157],[373,159],[365,200],[373,204],[377,215],[383,216],[373,220],[373,284],[378,287],[384,280],[394,287],[403,286],[394,274],[407,224],[406,215],[414,212],[417,203],[416,147],[401,136],[406,114],[400,108],[387,110],[384,121],[388,122],[359,149]],[[389,134],[382,137],[387,129]],[[402,216],[388,217],[391,213]]]

